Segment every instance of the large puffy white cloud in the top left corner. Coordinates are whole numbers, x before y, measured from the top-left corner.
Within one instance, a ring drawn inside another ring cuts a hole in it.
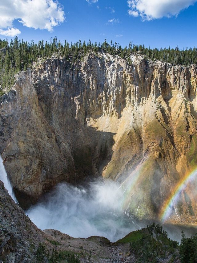
[[[12,27],[15,19],[26,27],[51,32],[53,27],[64,21],[64,11],[55,0],[0,0],[1,32],[18,35],[20,31]]]

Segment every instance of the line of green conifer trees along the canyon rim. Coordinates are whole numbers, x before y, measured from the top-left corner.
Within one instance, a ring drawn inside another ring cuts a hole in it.
[[[58,53],[58,55],[65,57],[72,64],[78,60],[82,60],[89,50],[98,52],[104,51],[111,55],[119,55],[121,58],[127,60],[131,64],[130,55],[139,52],[144,55],[145,58],[149,58],[152,61],[160,60],[162,62],[168,62],[171,64],[190,65],[197,64],[197,48],[186,48],[185,50],[179,50],[178,47],[171,48],[150,48],[144,45],[129,43],[128,47],[121,47],[119,43],[109,43],[105,39],[102,43],[92,43],[90,40],[88,43],[81,40],[77,43],[69,43],[65,40],[65,43],[55,37],[49,42],[44,40],[39,41],[38,44],[31,40],[30,43],[22,41],[15,37],[14,41],[1,40],[0,39],[0,95],[5,92],[5,89],[9,89],[14,84],[14,75],[21,70],[26,70],[32,62],[37,62],[38,58],[45,59],[51,57],[52,54]]]

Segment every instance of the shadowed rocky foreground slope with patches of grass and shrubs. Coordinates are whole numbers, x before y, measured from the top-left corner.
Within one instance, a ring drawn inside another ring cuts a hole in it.
[[[11,199],[0,181],[0,262],[179,262],[176,241],[152,224],[115,243],[105,237],[73,238],[39,230]],[[156,260],[156,261],[155,261]]]

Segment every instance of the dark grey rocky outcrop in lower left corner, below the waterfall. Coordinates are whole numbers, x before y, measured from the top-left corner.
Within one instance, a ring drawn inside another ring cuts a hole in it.
[[[35,251],[45,238],[0,181],[0,262],[36,262]]]

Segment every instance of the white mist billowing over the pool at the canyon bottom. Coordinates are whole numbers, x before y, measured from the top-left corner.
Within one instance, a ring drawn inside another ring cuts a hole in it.
[[[140,228],[121,212],[122,191],[115,182],[97,181],[85,189],[59,184],[26,214],[38,228],[57,229],[73,237],[105,236],[116,241]]]

